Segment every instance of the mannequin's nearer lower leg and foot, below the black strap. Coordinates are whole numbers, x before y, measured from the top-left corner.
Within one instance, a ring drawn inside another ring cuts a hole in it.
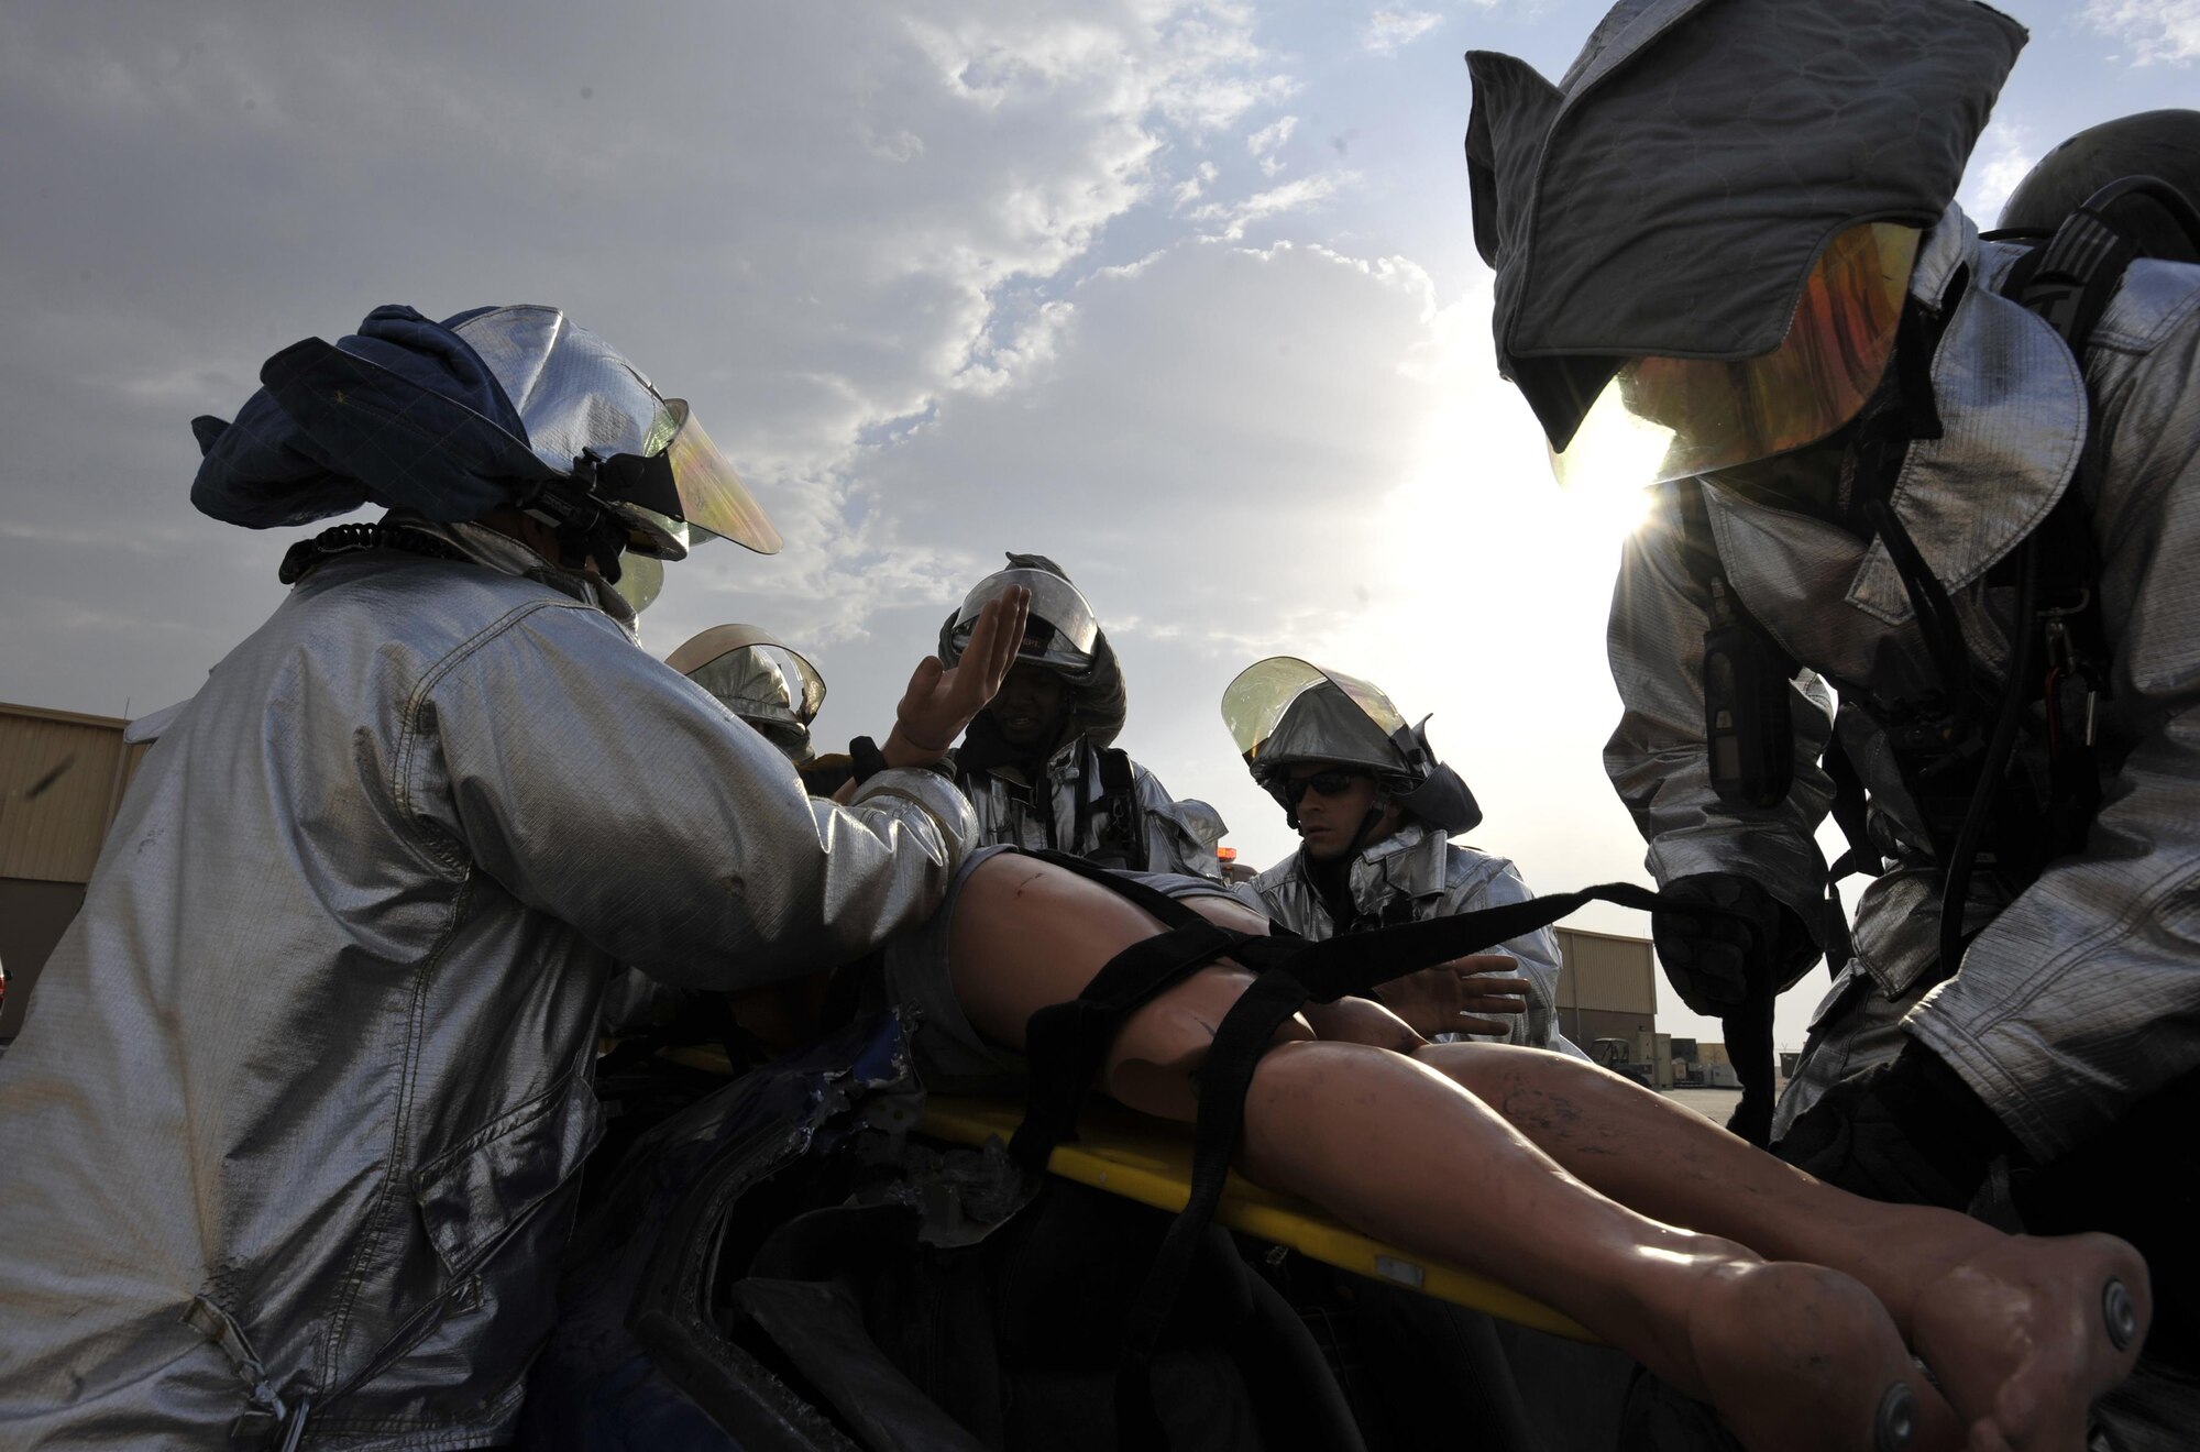
[[[1956,1445],[1954,1415],[1859,1283],[1641,1217],[1423,1076],[1357,1043],[1274,1049],[1245,1098],[1241,1168],[1560,1307],[1718,1406],[1749,1448],[1872,1448],[1896,1384],[1925,1412],[1910,1445]]]

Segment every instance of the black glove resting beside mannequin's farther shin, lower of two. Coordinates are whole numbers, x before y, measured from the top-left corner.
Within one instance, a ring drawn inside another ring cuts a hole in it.
[[[1910,1043],[1828,1089],[1773,1153],[1855,1195],[1965,1210],[1993,1159],[2020,1146],[1962,1076]]]

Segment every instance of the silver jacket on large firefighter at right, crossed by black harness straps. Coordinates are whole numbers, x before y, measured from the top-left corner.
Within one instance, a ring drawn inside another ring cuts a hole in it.
[[[2013,257],[1954,207],[1921,246],[1912,297],[1945,319],[1932,363],[1943,436],[1910,447],[1892,502],[1954,596],[1973,662],[2000,678],[2015,592],[1989,587],[1987,570],[2075,486],[2094,414],[2099,497],[2086,504],[2112,649],[2099,700],[2103,803],[2086,849],[2013,902],[1978,873],[1967,926],[1982,931],[1960,975],[1901,1027],[2033,1155],[2053,1157],[2200,1063],[2200,268],[2134,262],[2081,374],[2046,321],[1995,293]],[[1747,873],[1817,922],[1826,867],[1813,832],[1833,796],[1817,757],[1835,728],[1824,682],[1846,682],[1841,744],[1874,801],[1888,871],[1861,895],[1857,957],[1819,1012],[1857,979],[1903,1003],[1938,957],[1943,878],[1890,744],[1857,702],[1914,697],[1936,680],[1923,631],[1885,543],[1712,480],[1703,497],[1736,594],[1806,667],[1793,686],[1795,785],[1764,812],[1712,792],[1705,601],[1674,528],[1628,543],[1613,594],[1626,713],[1606,770],[1661,884]],[[1879,1054],[1899,1047],[1890,1038]]]

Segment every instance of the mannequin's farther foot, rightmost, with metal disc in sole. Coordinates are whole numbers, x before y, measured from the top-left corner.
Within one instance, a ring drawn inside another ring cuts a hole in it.
[[[1973,1448],[2077,1452],[2094,1399],[2132,1375],[2152,1309],[2125,1241],[2011,1236],[1927,1285],[1912,1329]]]

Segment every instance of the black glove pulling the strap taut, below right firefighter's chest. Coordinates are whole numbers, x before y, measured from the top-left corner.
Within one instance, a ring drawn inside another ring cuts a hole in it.
[[[1815,957],[1802,917],[1749,878],[1705,871],[1659,889],[1676,906],[1650,913],[1650,937],[1681,1001],[1720,1019],[1749,999],[1751,979],[1786,988]],[[1692,913],[1687,904],[1707,909]],[[1793,964],[1793,970],[1791,970]]]

